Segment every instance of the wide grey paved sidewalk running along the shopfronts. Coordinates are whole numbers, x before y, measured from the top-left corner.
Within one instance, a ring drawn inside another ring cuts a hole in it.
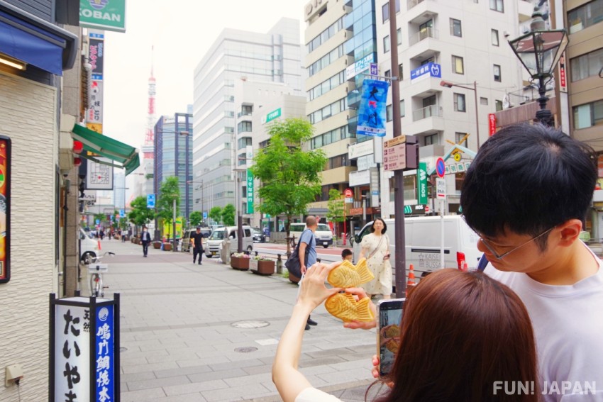
[[[121,400],[280,401],[270,369],[297,286],[219,259],[103,240],[105,296],[121,294]],[[82,295],[89,295],[82,277]],[[364,401],[375,330],[348,330],[320,306],[299,367],[312,385]],[[375,387],[378,388],[378,387]]]

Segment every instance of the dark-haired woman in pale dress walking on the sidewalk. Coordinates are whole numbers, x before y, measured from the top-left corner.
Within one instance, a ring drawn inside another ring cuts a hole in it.
[[[360,256],[366,257],[367,267],[375,279],[363,284],[363,289],[371,296],[382,295],[390,298],[392,294],[392,264],[389,262],[389,237],[387,225],[382,218],[375,218],[370,228],[372,233],[365,235],[360,243]]]

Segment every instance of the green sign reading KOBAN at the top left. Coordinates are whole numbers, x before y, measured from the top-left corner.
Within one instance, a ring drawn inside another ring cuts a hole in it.
[[[79,0],[79,26],[126,32],[126,0]]]

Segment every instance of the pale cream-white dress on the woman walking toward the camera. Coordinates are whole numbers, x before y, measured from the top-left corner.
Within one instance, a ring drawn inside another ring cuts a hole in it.
[[[383,240],[380,244],[381,238]],[[379,247],[377,252],[367,259],[367,267],[375,275],[375,279],[362,285],[367,294],[392,294],[392,264],[389,259],[383,260],[383,256],[387,254],[388,243],[387,235],[376,236],[375,233],[366,235],[360,243],[365,250],[365,257]]]

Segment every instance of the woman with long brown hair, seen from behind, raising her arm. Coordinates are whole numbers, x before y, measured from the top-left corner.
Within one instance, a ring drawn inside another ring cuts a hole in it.
[[[297,369],[307,316],[341,290],[324,286],[337,264],[308,270],[281,336],[272,381],[284,402],[339,401]],[[361,289],[346,291],[366,297]],[[383,379],[392,389],[377,400],[532,402],[540,394],[537,379],[533,330],[519,297],[481,272],[441,269],[421,279],[406,300],[399,352]]]

